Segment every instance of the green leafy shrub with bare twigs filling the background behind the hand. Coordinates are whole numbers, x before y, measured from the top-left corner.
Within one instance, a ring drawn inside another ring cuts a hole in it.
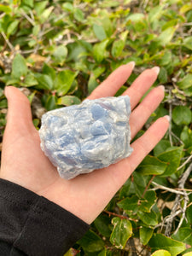
[[[192,252],[191,25],[189,0],[1,1],[1,139],[5,85],[28,96],[37,129],[45,111],[79,104],[129,61],[136,67],[117,95],[148,67],[160,67],[154,86],[166,86],[164,102],[137,135],[169,114],[166,137],[67,255]]]

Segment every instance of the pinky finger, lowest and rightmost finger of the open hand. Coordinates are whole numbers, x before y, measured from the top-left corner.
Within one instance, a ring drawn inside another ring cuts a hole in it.
[[[169,127],[169,116],[157,119],[153,125],[148,128],[142,137],[139,137],[134,143],[131,144],[133,153],[127,159],[133,172],[137,166],[142,162],[145,156],[160,142],[164,137]]]

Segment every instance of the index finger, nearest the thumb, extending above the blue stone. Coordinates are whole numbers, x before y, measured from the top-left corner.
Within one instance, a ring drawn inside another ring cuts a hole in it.
[[[119,88],[125,84],[126,80],[131,75],[135,66],[135,62],[131,61],[126,65],[118,67],[113,73],[108,76],[93,92],[88,96],[88,99],[94,100],[96,98],[114,96]]]

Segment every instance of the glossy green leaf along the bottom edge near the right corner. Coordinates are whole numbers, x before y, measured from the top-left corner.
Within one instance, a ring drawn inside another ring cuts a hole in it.
[[[165,249],[171,253],[172,256],[177,256],[185,250],[185,244],[183,242],[173,240],[161,234],[154,234],[148,244],[152,247],[153,251]]]

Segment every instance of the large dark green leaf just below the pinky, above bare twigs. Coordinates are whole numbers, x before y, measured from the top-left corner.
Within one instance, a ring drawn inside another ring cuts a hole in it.
[[[166,171],[161,175],[166,177],[177,171],[180,159],[183,153],[183,146],[174,148],[172,150],[166,151],[165,153],[159,154],[158,158],[167,164]]]

